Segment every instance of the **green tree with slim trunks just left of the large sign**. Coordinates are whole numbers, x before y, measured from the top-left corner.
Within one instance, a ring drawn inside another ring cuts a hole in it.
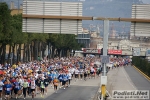
[[[13,50],[13,62],[15,61],[15,56],[17,57],[17,62],[19,62],[21,60],[21,45],[26,43],[28,38],[27,34],[22,32],[22,14],[13,15],[11,17],[11,34],[12,36],[9,45],[10,48],[12,46]],[[14,51],[16,51],[16,55],[14,55]],[[10,52],[8,58],[9,57]]]

